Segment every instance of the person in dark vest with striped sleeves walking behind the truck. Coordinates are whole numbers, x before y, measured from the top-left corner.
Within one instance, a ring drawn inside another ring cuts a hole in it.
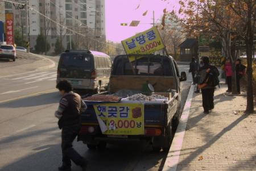
[[[79,134],[81,128],[80,114],[87,108],[79,94],[73,93],[72,85],[66,81],[60,81],[56,88],[62,95],[59,108],[55,112],[56,118],[59,119],[58,125],[61,129],[61,151],[62,166],[59,170],[70,171],[71,160],[76,165],[81,166],[82,170],[86,169],[86,160],[73,149],[73,140]]]

